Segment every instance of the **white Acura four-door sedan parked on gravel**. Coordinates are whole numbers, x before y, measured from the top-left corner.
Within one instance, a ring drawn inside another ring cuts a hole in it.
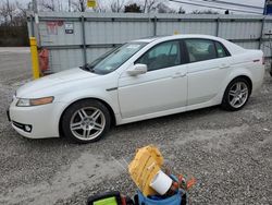
[[[126,43],[91,63],[20,87],[8,110],[29,138],[101,138],[113,125],[221,105],[242,109],[263,82],[261,50],[207,35]]]

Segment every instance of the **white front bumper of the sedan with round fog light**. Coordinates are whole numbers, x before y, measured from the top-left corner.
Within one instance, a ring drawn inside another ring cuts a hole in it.
[[[47,138],[59,136],[61,105],[58,102],[44,106],[17,107],[14,99],[8,110],[12,128],[28,138]]]

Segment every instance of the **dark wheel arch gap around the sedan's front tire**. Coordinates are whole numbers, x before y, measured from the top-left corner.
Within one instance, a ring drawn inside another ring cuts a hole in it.
[[[81,98],[81,99],[76,99],[75,101],[72,101],[70,104],[67,104],[65,106],[65,108],[62,110],[61,112],[61,116],[59,118],[59,123],[58,123],[58,129],[59,129],[59,135],[62,136],[63,135],[63,131],[62,131],[62,128],[61,128],[61,121],[62,121],[62,118],[63,118],[63,114],[64,112],[74,104],[78,102],[78,101],[82,101],[82,100],[88,100],[88,99],[92,99],[92,100],[97,100],[97,101],[100,101],[101,104],[103,104],[107,109],[109,110],[110,112],[110,116],[111,116],[111,124],[112,125],[115,125],[116,124],[116,118],[115,118],[115,114],[114,114],[114,111],[112,109],[112,107],[103,99],[100,99],[100,98],[97,98],[97,97],[85,97],[85,98]]]

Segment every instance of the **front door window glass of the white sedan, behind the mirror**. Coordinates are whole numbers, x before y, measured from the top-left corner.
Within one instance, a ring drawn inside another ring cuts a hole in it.
[[[181,64],[180,41],[161,43],[148,50],[135,63],[146,64],[148,71],[178,65]]]

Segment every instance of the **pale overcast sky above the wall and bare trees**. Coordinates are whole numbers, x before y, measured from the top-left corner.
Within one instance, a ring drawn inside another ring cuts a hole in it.
[[[0,0],[0,2],[1,1],[5,1],[5,0]],[[22,3],[27,3],[30,0],[10,0],[10,1],[18,1],[18,2],[22,2]],[[37,1],[41,1],[41,0],[37,0]],[[60,1],[62,1],[63,4],[67,4],[69,0],[60,0]],[[99,0],[99,2],[101,2],[102,4],[107,4],[110,1],[113,1],[113,0]],[[120,0],[120,1],[122,1],[122,0]],[[125,1],[127,1],[127,2],[137,2],[137,0],[125,0]],[[140,0],[140,1],[144,1],[144,0]],[[259,9],[249,9],[249,8],[237,7],[237,5],[226,5],[226,4],[209,2],[209,1],[212,1],[212,0],[206,0],[206,1],[205,0],[181,0],[181,1],[194,2],[194,3],[203,4],[203,5],[222,7],[222,8],[225,8],[225,9],[247,10],[247,11],[254,11],[254,12],[262,13],[262,10],[259,10]],[[246,5],[255,5],[255,7],[261,7],[261,8],[263,8],[263,4],[264,4],[264,0],[238,0],[238,1],[237,0],[221,0],[221,1],[246,4]],[[209,9],[209,8],[205,8],[205,7],[189,5],[189,4],[186,4],[186,3],[169,2],[168,0],[165,0],[165,2],[166,2],[166,4],[169,4],[172,8],[180,8],[182,5],[185,9],[185,11],[187,11],[187,12],[190,12],[190,11],[194,11],[194,10],[207,10],[207,9]],[[219,11],[219,12],[224,12],[224,10],[217,10],[217,9],[212,9],[212,10],[215,10],[215,11]],[[232,12],[232,13],[239,13],[239,12]]]

